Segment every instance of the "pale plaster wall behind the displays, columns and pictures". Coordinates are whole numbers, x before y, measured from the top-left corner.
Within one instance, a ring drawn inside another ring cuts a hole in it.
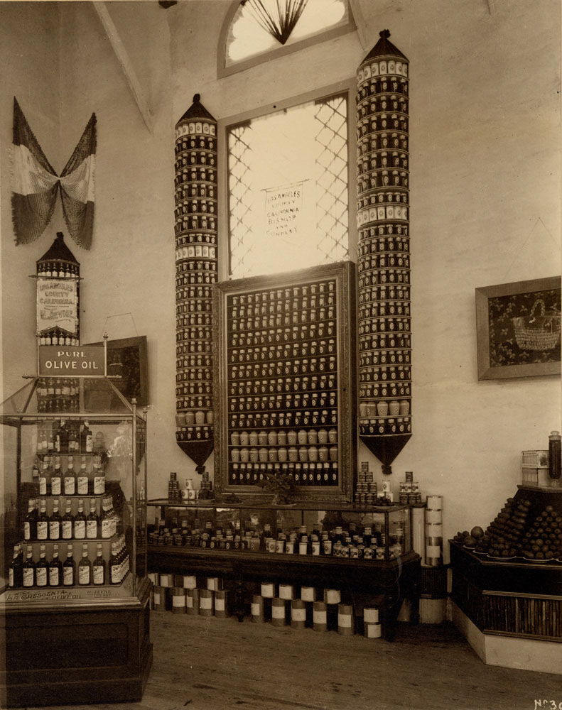
[[[43,34],[38,9],[45,4],[30,5],[33,32],[50,48],[55,43]],[[389,28],[411,62],[414,317],[414,435],[394,462],[393,487],[397,492],[411,470],[424,495],[445,496],[445,537],[486,525],[516,490],[521,449],[545,447],[549,432],[561,428],[559,377],[477,381],[474,307],[477,286],[561,272],[558,1],[383,0],[375,6],[362,0],[364,46],[352,33],[220,80],[217,45],[228,2],[188,0],[167,11],[152,2],[108,6],[153,112],[153,133],[89,2],[57,4],[60,84],[51,83],[60,99],[50,97],[51,118],[60,123],[64,163],[92,111],[97,114],[94,244],[90,252],[73,249],[85,278],[82,342],[99,340],[104,329],[110,338],[148,337],[148,496],[166,493],[169,471],[180,480],[195,477],[173,441],[175,121],[195,92],[215,118],[226,119],[346,80],[379,31]],[[26,85],[30,104],[49,104],[45,84],[37,81],[36,91],[28,84],[43,61],[31,44],[21,39],[26,63],[11,77],[17,90],[1,94],[0,131],[8,141],[10,92],[19,97],[18,87]],[[26,113],[36,121],[31,107]],[[45,124],[48,139],[40,124],[33,127],[48,155],[48,140],[58,148],[55,126]],[[3,248],[11,258],[6,285],[3,280],[4,333],[10,333],[10,324],[34,322],[34,284],[26,282],[23,291],[23,275],[33,273],[36,258],[65,226],[53,220],[40,244],[10,246],[6,140],[1,150]],[[14,288],[21,297],[6,304]],[[20,329],[31,334],[17,344],[4,337],[10,391],[22,358],[33,361],[19,354],[33,351],[33,328]],[[369,461],[382,480],[364,447],[358,460]]]

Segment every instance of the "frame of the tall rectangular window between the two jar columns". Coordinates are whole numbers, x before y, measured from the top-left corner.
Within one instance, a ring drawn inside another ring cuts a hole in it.
[[[217,121],[217,162],[222,166],[217,170],[217,195],[218,195],[218,229],[217,246],[222,256],[219,258],[218,280],[231,280],[230,273],[230,244],[229,244],[229,193],[228,193],[228,158],[227,158],[227,129],[229,126],[251,121],[252,119],[266,116],[267,114],[283,109],[292,108],[310,101],[325,99],[333,94],[347,92],[347,239],[348,256],[350,261],[357,263],[357,136],[355,133],[355,92],[357,90],[356,77],[330,84],[320,89],[298,94],[294,97],[283,99],[275,104],[244,111],[241,114],[227,116]],[[248,277],[250,278],[250,277]]]

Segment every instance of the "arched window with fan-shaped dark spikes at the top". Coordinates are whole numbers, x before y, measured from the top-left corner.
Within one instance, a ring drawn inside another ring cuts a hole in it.
[[[237,1],[222,28],[217,75],[225,77],[352,31],[348,0]]]

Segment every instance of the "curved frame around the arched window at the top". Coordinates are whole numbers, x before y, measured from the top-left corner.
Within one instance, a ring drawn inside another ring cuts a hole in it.
[[[232,20],[234,19],[234,15],[236,14],[239,4],[240,0],[234,0],[232,2],[225,16],[225,20],[222,23],[222,27],[220,28],[217,51],[217,79],[229,77],[233,74],[237,74],[238,72],[243,72],[244,70],[263,64],[264,62],[269,62],[269,60],[278,59],[279,57],[284,57],[288,54],[292,54],[293,52],[298,52],[301,49],[305,49],[306,47],[310,47],[320,42],[326,42],[328,40],[335,39],[336,37],[341,37],[342,35],[347,35],[351,32],[357,31],[357,24],[355,23],[355,18],[353,16],[352,2],[347,0],[347,24],[340,27],[329,28],[324,32],[312,35],[311,37],[306,37],[290,45],[279,45],[276,49],[268,50],[249,59],[243,59],[242,61],[235,62],[227,67],[227,38]]]

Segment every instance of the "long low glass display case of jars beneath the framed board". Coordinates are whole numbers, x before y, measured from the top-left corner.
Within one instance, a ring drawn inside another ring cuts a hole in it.
[[[148,506],[160,508],[154,523],[148,521],[149,545],[340,557],[358,564],[397,559],[412,550],[409,506],[166,500]]]

